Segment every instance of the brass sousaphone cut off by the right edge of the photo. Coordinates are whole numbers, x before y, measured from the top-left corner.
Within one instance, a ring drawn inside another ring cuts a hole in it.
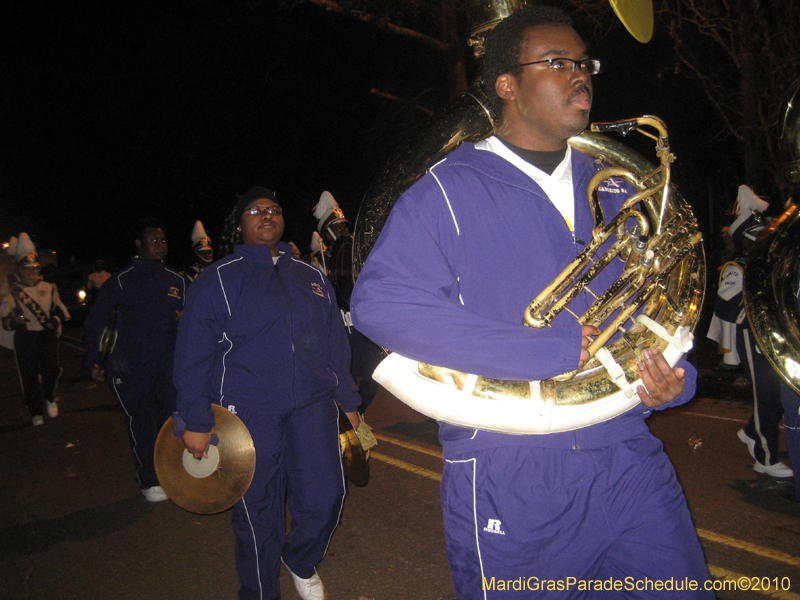
[[[784,167],[800,190],[800,81],[786,104],[781,127]],[[794,199],[795,202],[798,198]],[[766,359],[800,394],[800,209],[790,206],[761,232],[750,249],[744,275],[744,304],[750,329]]]

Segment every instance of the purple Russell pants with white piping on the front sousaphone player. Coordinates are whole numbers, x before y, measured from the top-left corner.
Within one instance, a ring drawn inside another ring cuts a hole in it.
[[[683,490],[650,433],[595,450],[478,449],[445,460],[441,487],[458,600],[714,597]],[[677,590],[642,587],[670,578]],[[623,587],[581,589],[611,580]]]

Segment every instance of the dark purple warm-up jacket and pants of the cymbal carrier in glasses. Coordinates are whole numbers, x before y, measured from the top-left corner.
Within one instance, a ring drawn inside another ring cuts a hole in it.
[[[233,508],[239,597],[280,598],[280,561],[307,579],[345,495],[338,409],[361,402],[330,282],[281,243],[240,245],[189,287],[175,350],[178,412],[214,425],[211,404],[239,416],[256,448],[253,482]],[[291,532],[284,538],[284,501]]]

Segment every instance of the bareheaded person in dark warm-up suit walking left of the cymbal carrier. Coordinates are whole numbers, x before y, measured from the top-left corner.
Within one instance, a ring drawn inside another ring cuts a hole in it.
[[[137,221],[130,236],[137,256],[103,284],[86,318],[85,365],[92,379],[108,382],[125,412],[142,494],[149,502],[162,502],[167,495],[158,482],[153,450],[175,410],[172,355],[186,280],[164,265],[167,238],[159,219]],[[100,340],[107,329],[116,331],[116,343],[103,364]]]

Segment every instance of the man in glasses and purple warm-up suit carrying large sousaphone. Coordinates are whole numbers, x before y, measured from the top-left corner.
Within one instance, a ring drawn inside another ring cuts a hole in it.
[[[543,380],[582,366],[586,336],[596,334],[566,314],[548,328],[521,323],[531,299],[591,240],[586,187],[602,165],[567,139],[588,125],[599,61],[563,11],[541,5],[498,24],[484,60],[497,135],[463,144],[398,200],[356,281],[353,322],[413,360]],[[606,214],[626,198],[620,186],[601,187]],[[642,587],[670,578],[696,582],[698,591],[681,583],[683,598],[713,596],[703,590],[709,574],[683,490],[644,422],[689,400],[695,371],[686,361],[672,369],[651,350],[639,373],[641,404],[573,431],[440,424],[459,600],[672,598],[674,590]],[[587,581],[609,579],[626,587],[587,590]]]

